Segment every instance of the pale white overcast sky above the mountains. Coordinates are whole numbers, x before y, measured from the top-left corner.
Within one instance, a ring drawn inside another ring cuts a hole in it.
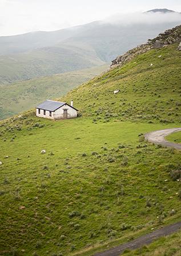
[[[181,12],[181,0],[0,0],[0,36],[57,30],[156,8]]]

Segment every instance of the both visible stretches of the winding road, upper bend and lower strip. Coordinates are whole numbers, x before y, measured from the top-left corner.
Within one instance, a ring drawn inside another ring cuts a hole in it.
[[[144,138],[148,142],[151,142],[154,144],[181,150],[181,143],[169,142],[164,139],[164,137],[166,137],[171,133],[176,133],[176,131],[181,131],[181,128],[152,131],[151,133],[145,134]],[[139,238],[134,239],[131,242],[123,243],[122,245],[113,247],[106,251],[102,251],[101,253],[96,253],[94,254],[94,256],[119,256],[126,249],[129,249],[129,250],[138,249],[143,245],[148,245],[152,243],[155,239],[158,239],[162,236],[171,235],[172,233],[179,230],[181,230],[181,222],[177,222],[177,223],[165,226],[163,228],[160,228],[158,230],[151,232],[150,234],[140,236]]]

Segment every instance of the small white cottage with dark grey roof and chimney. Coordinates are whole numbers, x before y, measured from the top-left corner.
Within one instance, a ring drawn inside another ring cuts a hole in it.
[[[49,119],[69,119],[76,118],[78,110],[73,107],[73,100],[70,105],[66,102],[57,102],[55,100],[45,100],[36,107],[37,117]]]

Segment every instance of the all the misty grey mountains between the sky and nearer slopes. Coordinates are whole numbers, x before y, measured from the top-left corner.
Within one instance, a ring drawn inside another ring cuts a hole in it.
[[[0,83],[102,65],[180,23],[180,13],[155,9],[54,32],[0,37]]]

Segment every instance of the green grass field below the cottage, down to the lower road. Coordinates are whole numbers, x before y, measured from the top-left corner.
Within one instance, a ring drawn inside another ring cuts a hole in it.
[[[179,219],[170,172],[181,155],[138,136],[167,127],[34,117],[2,125],[2,250],[69,255]]]

